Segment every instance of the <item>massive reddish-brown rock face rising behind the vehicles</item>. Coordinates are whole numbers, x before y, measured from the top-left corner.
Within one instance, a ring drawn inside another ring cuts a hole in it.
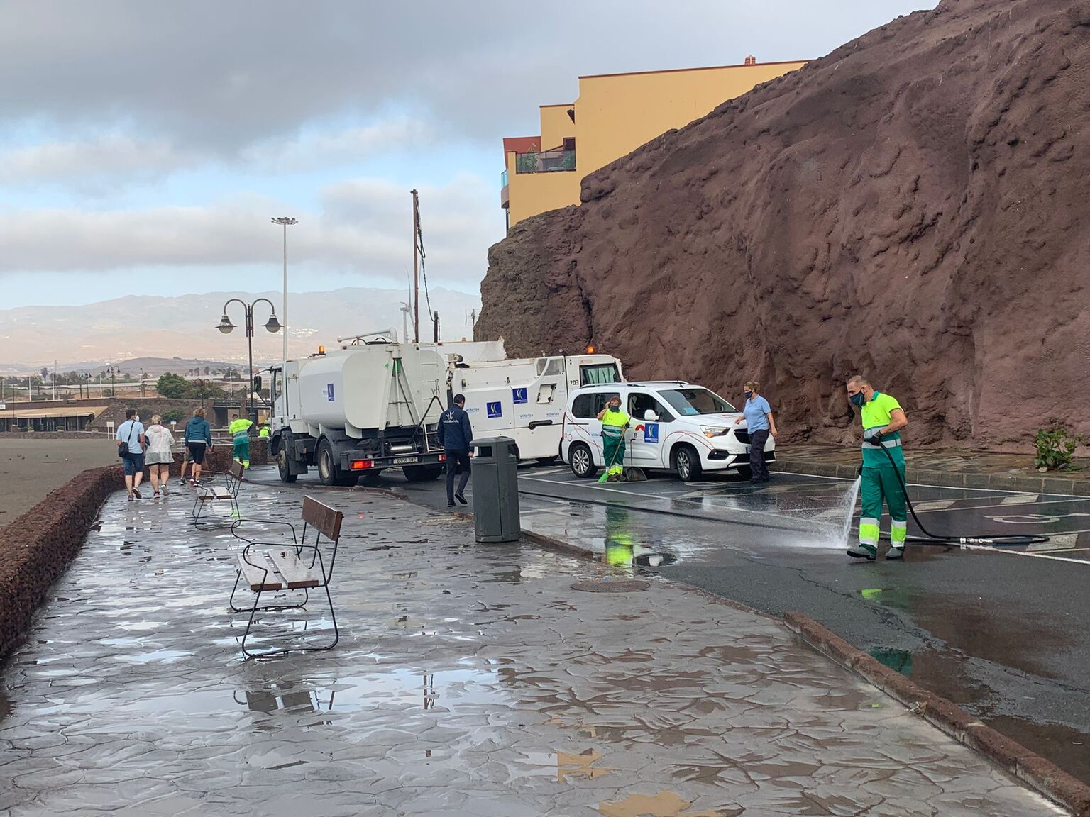
[[[586,176],[488,253],[479,339],[589,343],[631,378],[848,442],[844,380],[913,444],[1090,431],[1090,3],[946,0]]]

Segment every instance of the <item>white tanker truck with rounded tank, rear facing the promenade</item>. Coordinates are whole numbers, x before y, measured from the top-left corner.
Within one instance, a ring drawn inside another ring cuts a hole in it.
[[[323,485],[355,485],[390,467],[410,481],[439,476],[435,429],[447,395],[436,346],[383,338],[318,350],[269,373],[269,453],[280,479],[293,483],[311,467]]]

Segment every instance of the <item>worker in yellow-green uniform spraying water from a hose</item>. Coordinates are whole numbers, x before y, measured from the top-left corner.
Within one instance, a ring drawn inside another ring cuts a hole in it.
[[[862,375],[848,380],[848,400],[860,408],[863,423],[862,483],[859,486],[863,507],[859,517],[859,545],[849,549],[848,556],[872,562],[877,557],[879,522],[884,500],[893,520],[886,560],[903,559],[908,514],[905,489],[901,487],[905,483],[905,453],[900,446],[900,431],[908,425],[908,417],[895,398],[875,391]]]

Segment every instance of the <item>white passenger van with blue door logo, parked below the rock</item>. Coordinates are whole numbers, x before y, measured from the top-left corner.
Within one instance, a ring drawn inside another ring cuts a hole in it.
[[[621,406],[632,417],[625,465],[675,471],[687,483],[700,479],[705,471],[749,475],[749,432],[744,419],[735,423],[741,412],[703,386],[671,380],[592,386],[574,392],[564,413],[560,455],[576,476],[591,478],[606,465],[597,414],[614,394],[620,395]],[[771,436],[764,459],[776,460]]]

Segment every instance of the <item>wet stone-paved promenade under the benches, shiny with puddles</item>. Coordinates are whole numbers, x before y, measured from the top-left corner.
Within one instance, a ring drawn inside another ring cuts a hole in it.
[[[112,498],[7,664],[0,813],[1062,814],[772,619],[653,576],[579,592],[635,569],[375,493],[319,495],[346,512],[339,646],[243,661],[238,540],[187,495]],[[289,637],[328,629],[304,619]]]

